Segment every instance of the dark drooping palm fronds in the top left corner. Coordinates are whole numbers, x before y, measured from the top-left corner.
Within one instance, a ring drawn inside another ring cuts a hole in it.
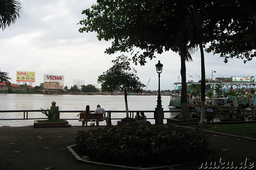
[[[4,31],[20,18],[21,3],[18,0],[0,0],[0,28]]]

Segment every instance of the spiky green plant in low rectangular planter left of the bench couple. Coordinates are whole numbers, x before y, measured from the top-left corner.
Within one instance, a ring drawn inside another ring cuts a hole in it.
[[[42,109],[42,108],[40,108]],[[68,121],[63,119],[56,119],[54,116],[56,116],[57,108],[55,110],[49,110],[47,108],[47,111],[42,109],[42,113],[45,114],[45,116],[48,117],[47,120],[34,120],[34,128],[42,128],[42,127],[71,127],[71,125],[68,124]]]

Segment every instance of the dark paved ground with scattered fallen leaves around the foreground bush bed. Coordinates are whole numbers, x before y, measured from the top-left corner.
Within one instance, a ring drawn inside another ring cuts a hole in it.
[[[96,127],[72,126],[71,128],[0,127],[1,170],[116,170],[119,168],[97,166],[78,162],[65,148],[75,144],[78,130]],[[233,162],[236,166],[244,157],[254,162],[256,169],[256,140],[242,139],[205,132],[209,138],[211,157]],[[239,139],[239,140],[237,140]],[[220,149],[230,149],[222,151]],[[248,162],[248,161],[247,161]],[[241,163],[241,162],[240,162]],[[247,164],[248,166],[249,164]],[[175,167],[176,170],[198,169],[200,164]],[[208,166],[209,167],[209,166]],[[53,168],[52,168],[53,169]],[[169,168],[166,168],[169,169]],[[209,168],[205,168],[209,169]],[[235,169],[235,168],[228,168]],[[244,168],[248,169],[248,168]],[[120,169],[119,169],[120,170]]]

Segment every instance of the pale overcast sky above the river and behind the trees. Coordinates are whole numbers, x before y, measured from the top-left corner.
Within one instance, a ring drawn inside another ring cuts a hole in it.
[[[99,41],[96,33],[79,33],[82,25],[77,23],[85,15],[83,9],[96,4],[96,0],[20,0],[20,19],[4,32],[0,30],[0,68],[9,72],[11,82],[16,83],[16,71],[35,71],[36,82],[44,81],[44,74],[64,75],[64,86],[73,86],[73,80],[84,80],[85,85],[97,84],[102,72],[112,66],[111,60],[121,53],[112,55],[104,51],[111,42]],[[131,56],[130,54],[125,54]],[[132,56],[131,56],[132,57]],[[201,75],[200,54],[193,54],[193,61],[187,63],[187,80],[195,81]],[[174,89],[173,83],[180,80],[180,57],[177,53],[156,54],[145,66],[132,63],[140,81],[148,89],[158,89],[158,74],[155,64],[164,65],[161,74],[161,89]],[[243,60],[230,59],[228,63],[212,53],[205,53],[205,74],[211,77],[255,76],[255,59],[246,64]],[[193,75],[193,76],[189,76]],[[99,84],[100,87],[100,84]]]

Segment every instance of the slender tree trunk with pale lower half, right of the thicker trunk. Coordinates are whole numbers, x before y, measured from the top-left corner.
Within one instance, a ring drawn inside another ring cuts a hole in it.
[[[202,102],[202,111],[201,111],[201,119],[199,123],[199,127],[206,127],[205,123],[205,68],[204,68],[204,48],[202,43],[199,44],[200,53],[201,53],[201,102]]]

